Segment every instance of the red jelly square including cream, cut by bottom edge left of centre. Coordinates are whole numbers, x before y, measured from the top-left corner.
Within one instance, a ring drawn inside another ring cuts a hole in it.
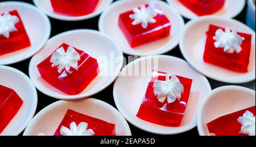
[[[115,136],[115,124],[69,109],[54,136]]]

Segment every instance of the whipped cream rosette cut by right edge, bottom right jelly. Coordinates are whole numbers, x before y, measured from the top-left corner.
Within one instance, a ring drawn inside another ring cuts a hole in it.
[[[242,124],[240,133],[255,136],[255,116],[253,113],[246,111],[243,116],[238,118],[238,122]]]

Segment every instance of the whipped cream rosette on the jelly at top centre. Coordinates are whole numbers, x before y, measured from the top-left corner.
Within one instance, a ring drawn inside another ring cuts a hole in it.
[[[137,25],[142,23],[142,27],[146,29],[148,27],[148,23],[156,23],[154,17],[157,14],[162,13],[162,11],[158,8],[158,5],[155,3],[150,3],[148,7],[145,5],[141,6],[141,9],[135,7],[133,8],[134,14],[130,15],[131,19],[134,19],[133,25]]]

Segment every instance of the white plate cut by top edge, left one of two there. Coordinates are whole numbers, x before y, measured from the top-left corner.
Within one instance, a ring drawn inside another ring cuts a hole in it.
[[[38,8],[43,10],[51,18],[65,21],[79,21],[94,18],[100,15],[101,12],[104,11],[105,8],[107,8],[113,2],[113,0],[100,0],[100,2],[98,2],[96,10],[94,10],[92,14],[88,14],[85,16],[68,16],[63,14],[57,14],[53,11],[50,0],[33,0],[33,2]]]

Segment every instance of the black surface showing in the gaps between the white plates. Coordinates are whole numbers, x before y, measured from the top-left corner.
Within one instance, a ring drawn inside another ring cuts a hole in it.
[[[0,2],[3,2],[5,0],[0,0]],[[22,1],[22,0],[19,0]],[[117,1],[117,0],[115,0]],[[28,2],[33,4],[32,0],[28,1],[23,1],[23,2]],[[240,15],[238,15],[235,19],[242,21],[242,23],[245,23],[245,18],[246,18],[246,8],[241,12]],[[96,18],[88,19],[88,20],[83,20],[83,21],[61,21],[61,20],[56,20],[56,19],[51,19],[51,25],[52,25],[52,32],[51,32],[51,37],[55,36],[56,34],[65,32],[65,31],[70,31],[72,29],[94,29],[98,30],[98,19],[99,16]],[[185,22],[187,23],[187,19],[184,19]],[[175,57],[179,57],[181,59],[183,58],[183,55],[180,52],[179,47],[177,46],[174,50],[171,50],[170,52],[166,53],[166,55],[172,55]],[[125,55],[127,58],[127,55]],[[18,70],[24,72],[26,75],[28,75],[28,64],[30,63],[30,59],[24,60],[23,62],[19,62],[16,64],[11,64],[9,66],[17,68]],[[212,89],[224,86],[224,85],[230,85],[226,83],[221,83],[218,81],[214,81],[211,79],[208,79],[210,82],[210,85],[212,86]],[[250,83],[245,83],[245,84],[236,84],[240,85],[243,87],[251,88],[255,90],[255,81],[251,81]],[[102,90],[102,92],[92,96],[93,98],[97,98],[98,100],[105,101],[109,103],[110,105],[115,106],[114,99],[113,99],[113,84],[111,84],[108,88],[105,90]],[[38,90],[38,107],[36,110],[36,114],[42,110],[44,107],[48,106],[49,104],[56,102],[58,100],[48,97],[45,94],[39,92]],[[129,124],[131,128],[131,133],[133,136],[153,136],[154,134],[144,132],[141,129],[138,129],[134,127],[133,125]],[[22,135],[21,133],[20,135]],[[185,132],[180,134],[180,136],[198,136],[197,128],[192,129],[191,131]]]

